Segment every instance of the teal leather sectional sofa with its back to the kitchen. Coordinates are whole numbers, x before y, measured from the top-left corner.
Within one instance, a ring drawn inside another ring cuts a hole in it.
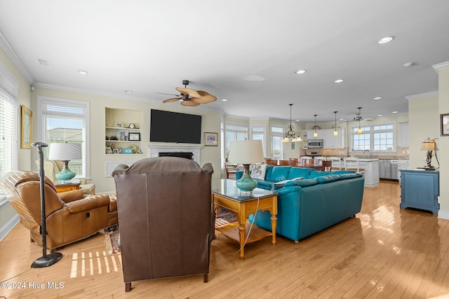
[[[237,179],[241,174],[236,174]],[[318,172],[310,168],[267,165],[264,178],[257,179],[257,186],[278,193],[276,234],[295,242],[361,210],[365,178],[356,172]],[[272,230],[270,217],[269,211],[257,211],[249,219]]]

